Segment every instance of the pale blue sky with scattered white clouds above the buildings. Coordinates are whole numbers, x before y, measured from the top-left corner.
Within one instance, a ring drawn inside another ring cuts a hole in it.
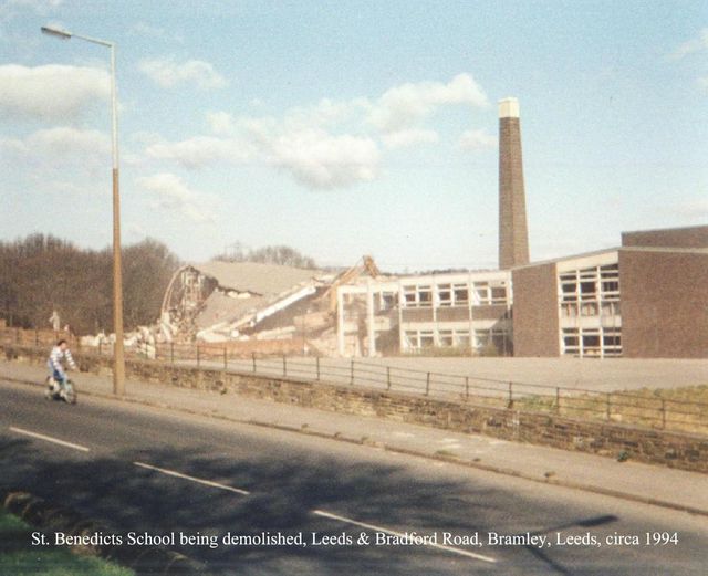
[[[708,224],[708,3],[0,0],[0,240],[493,269],[498,102],[533,261]]]

